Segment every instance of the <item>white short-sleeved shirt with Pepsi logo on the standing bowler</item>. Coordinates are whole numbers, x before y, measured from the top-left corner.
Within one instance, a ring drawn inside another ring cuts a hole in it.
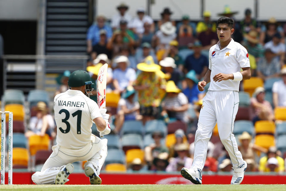
[[[231,74],[240,72],[240,68],[250,67],[248,53],[245,47],[231,39],[230,43],[220,50],[219,43],[209,49],[209,69],[211,72],[211,91],[231,90],[238,91],[240,81],[223,80],[213,81],[218,73]]]

